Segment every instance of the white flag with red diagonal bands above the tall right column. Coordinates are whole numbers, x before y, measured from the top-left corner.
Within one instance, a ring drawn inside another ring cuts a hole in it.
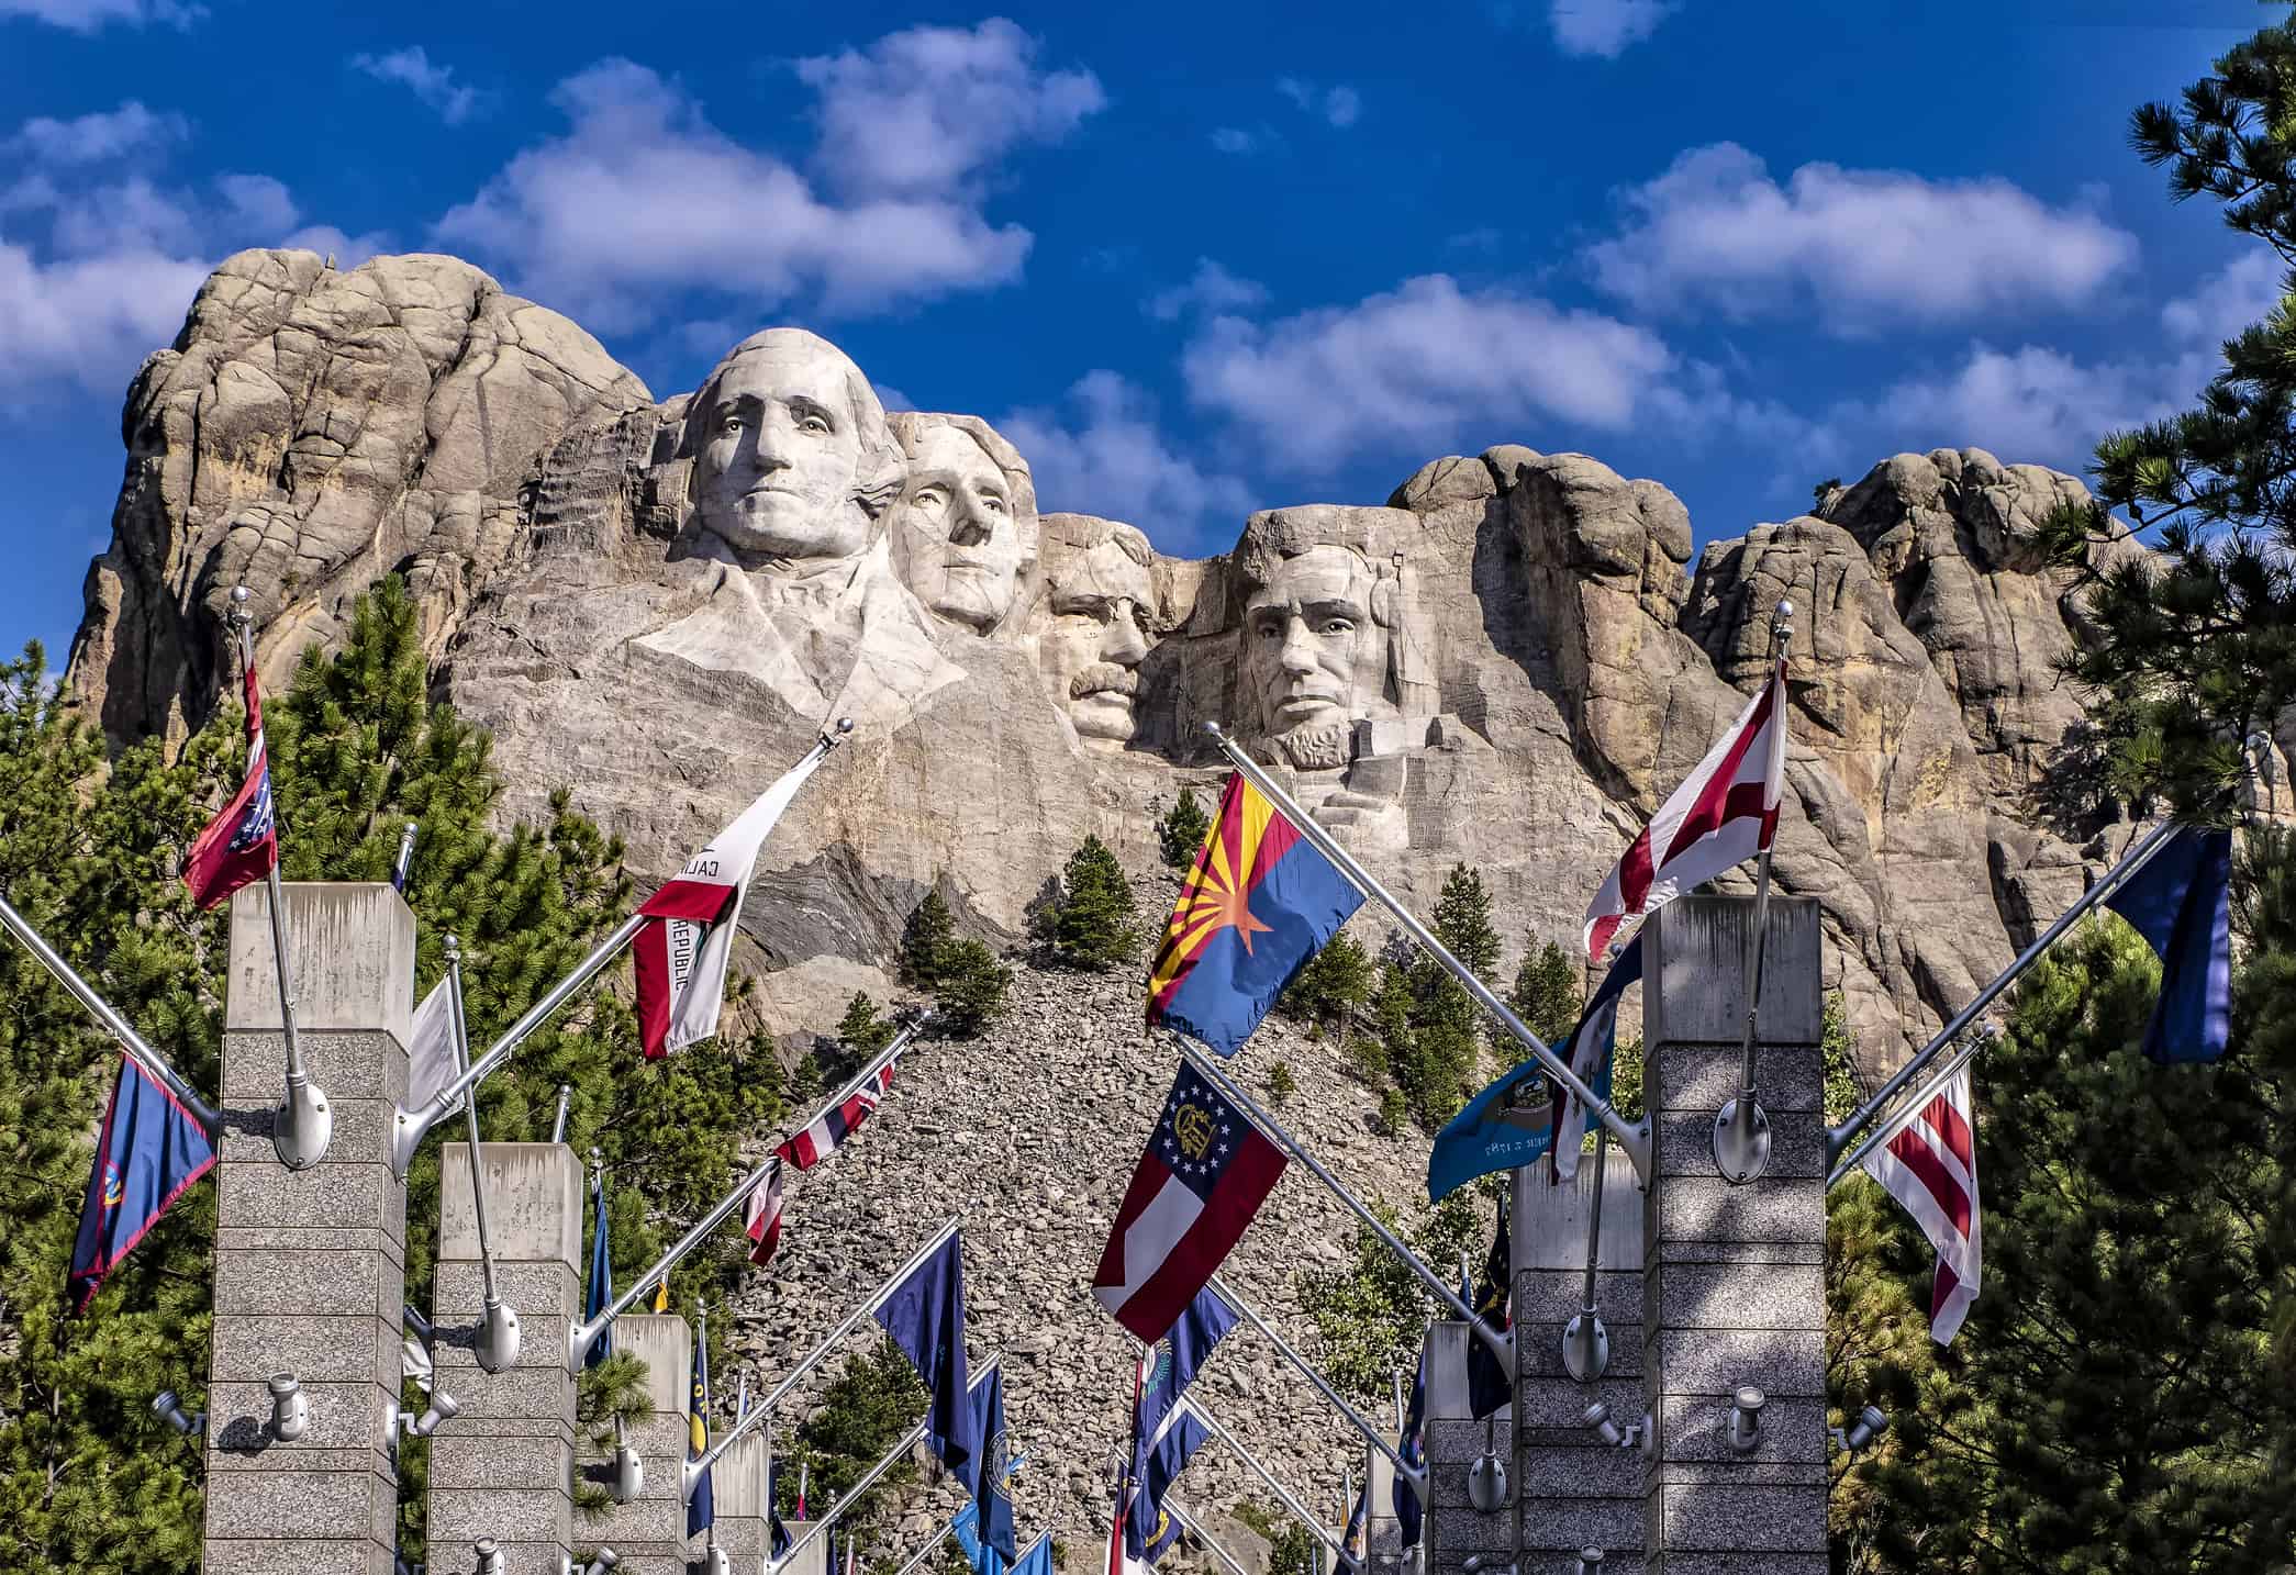
[[[1665,907],[1704,879],[1752,859],[1777,836],[1786,790],[1786,659],[1699,767],[1642,829],[1587,905],[1587,960],[1628,918]]]

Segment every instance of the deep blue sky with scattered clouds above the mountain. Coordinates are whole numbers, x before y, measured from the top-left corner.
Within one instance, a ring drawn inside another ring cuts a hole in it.
[[[1701,542],[1908,448],[2078,471],[2278,282],[2126,147],[2250,0],[358,11],[0,0],[9,647],[241,246],[459,253],[657,397],[799,321],[1185,553],[1502,441]]]

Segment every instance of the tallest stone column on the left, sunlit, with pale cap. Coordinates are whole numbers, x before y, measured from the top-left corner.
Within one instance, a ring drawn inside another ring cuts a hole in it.
[[[271,893],[232,898],[216,1155],[209,1355],[209,1575],[390,1575],[406,1189],[390,1118],[406,1093],[416,921],[386,884],[292,884],[287,955],[303,1065],[333,1107],[326,1157],[287,1171],[271,1114],[287,1086]],[[308,1430],[269,1435],[266,1380],[292,1373]]]

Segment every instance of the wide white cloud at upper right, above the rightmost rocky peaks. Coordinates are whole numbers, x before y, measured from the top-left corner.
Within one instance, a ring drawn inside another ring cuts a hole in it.
[[[1623,195],[1589,248],[1596,282],[1646,312],[1805,312],[1846,335],[2094,301],[2138,255],[2099,214],[2002,179],[1931,181],[1807,163],[1784,186],[1736,142],[1681,154]]]

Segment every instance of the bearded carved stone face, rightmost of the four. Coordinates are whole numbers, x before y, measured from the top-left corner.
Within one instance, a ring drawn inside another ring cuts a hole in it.
[[[1389,636],[1371,613],[1373,583],[1345,546],[1311,546],[1279,558],[1270,583],[1244,602],[1244,682],[1267,737],[1332,737],[1359,716],[1394,709]],[[1329,765],[1345,765],[1345,755]]]

